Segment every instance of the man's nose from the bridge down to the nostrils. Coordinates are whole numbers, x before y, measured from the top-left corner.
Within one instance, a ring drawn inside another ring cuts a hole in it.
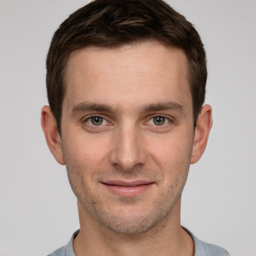
[[[110,163],[123,171],[131,171],[145,163],[141,131],[132,124],[123,124],[114,132]]]

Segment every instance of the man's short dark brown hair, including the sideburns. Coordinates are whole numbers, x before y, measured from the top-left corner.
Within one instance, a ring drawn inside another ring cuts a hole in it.
[[[47,96],[59,133],[70,53],[87,46],[111,48],[148,40],[185,53],[195,127],[204,102],[207,69],[203,44],[193,25],[162,0],[94,0],[60,24],[47,54]]]

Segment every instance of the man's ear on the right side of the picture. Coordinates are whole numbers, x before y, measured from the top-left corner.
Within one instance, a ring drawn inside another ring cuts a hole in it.
[[[193,150],[190,163],[197,162],[202,156],[207,144],[210,128],[212,126],[211,106],[202,106],[201,112],[197,118],[194,131]]]

